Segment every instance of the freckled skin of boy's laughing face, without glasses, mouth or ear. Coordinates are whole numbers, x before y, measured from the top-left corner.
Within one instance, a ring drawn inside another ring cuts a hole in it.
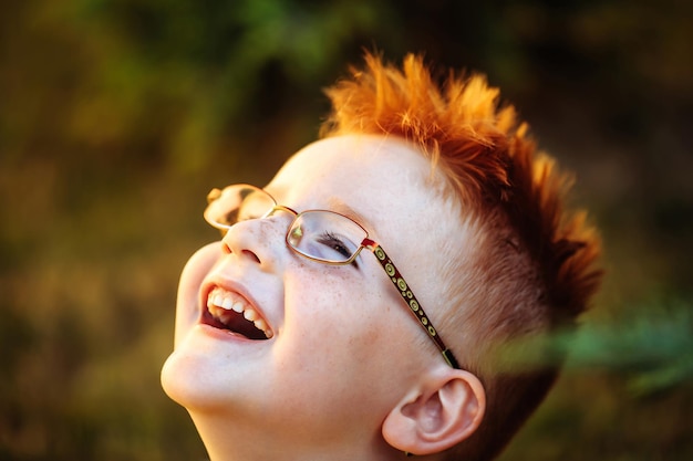
[[[461,224],[431,181],[428,160],[411,145],[342,136],[298,153],[265,189],[299,212],[338,211],[363,226],[439,325],[441,242]],[[444,364],[369,250],[358,265],[302,258],[285,241],[292,219],[277,211],[234,226],[221,243],[196,253],[180,279],[164,388],[203,438],[238,437],[239,450],[375,440],[417,376]],[[210,293],[250,305],[271,338],[200,322]],[[258,437],[272,447],[258,446]]]

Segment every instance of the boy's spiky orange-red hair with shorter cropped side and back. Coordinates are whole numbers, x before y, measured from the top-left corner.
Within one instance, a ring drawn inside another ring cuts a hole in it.
[[[442,268],[454,307],[439,328],[458,332],[452,347],[487,392],[485,420],[459,448],[469,459],[490,459],[544,399],[559,367],[519,374],[492,358],[526,335],[575,323],[601,279],[597,234],[583,212],[565,207],[570,178],[537,153],[527,125],[484,76],[451,72],[438,85],[421,56],[407,55],[397,69],[366,53],[365,67],[327,94],[332,112],[322,136],[399,136],[418,146],[473,230],[474,244],[445,242],[459,258]]]

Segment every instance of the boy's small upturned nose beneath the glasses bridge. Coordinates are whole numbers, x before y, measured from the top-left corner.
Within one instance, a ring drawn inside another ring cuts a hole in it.
[[[237,259],[259,264],[262,271],[272,271],[288,253],[285,233],[286,218],[269,217],[240,221],[231,226],[221,239],[223,251]]]

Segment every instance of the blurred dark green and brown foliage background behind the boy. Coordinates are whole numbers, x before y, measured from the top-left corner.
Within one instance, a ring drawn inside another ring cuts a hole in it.
[[[608,276],[503,460],[693,459],[693,2],[0,6],[0,460],[201,460],[159,388],[213,186],[314,139],[377,48],[488,74],[577,172]]]

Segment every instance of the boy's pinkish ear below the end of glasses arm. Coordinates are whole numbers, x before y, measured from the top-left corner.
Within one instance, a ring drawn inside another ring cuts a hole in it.
[[[478,428],[486,394],[475,375],[445,368],[418,385],[383,422],[383,438],[392,447],[414,454],[437,453]]]

